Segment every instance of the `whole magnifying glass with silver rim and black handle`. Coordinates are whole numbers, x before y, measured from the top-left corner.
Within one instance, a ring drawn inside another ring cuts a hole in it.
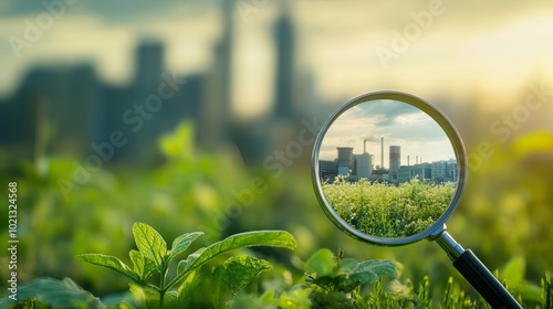
[[[431,104],[400,92],[353,98],[323,126],[312,161],[321,206],[344,233],[382,246],[436,241],[490,306],[522,308],[446,231],[467,156],[451,121]]]

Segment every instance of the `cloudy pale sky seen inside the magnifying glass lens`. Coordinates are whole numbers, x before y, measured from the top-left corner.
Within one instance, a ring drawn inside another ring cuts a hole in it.
[[[334,160],[336,147],[353,147],[363,153],[364,139],[373,164],[380,164],[380,138],[384,137],[384,167],[389,168],[389,146],[401,147],[401,166],[415,164],[416,156],[424,162],[455,159],[444,130],[424,111],[396,100],[372,100],[358,104],[342,114],[326,132],[320,159]]]

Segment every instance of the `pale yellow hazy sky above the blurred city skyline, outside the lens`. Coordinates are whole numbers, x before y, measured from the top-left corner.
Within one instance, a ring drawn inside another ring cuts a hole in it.
[[[55,17],[43,1],[1,1],[0,97],[36,63],[92,61],[102,78],[123,85],[144,36],[166,43],[168,70],[202,71],[221,33],[216,0],[65,1],[73,4]],[[519,104],[531,82],[553,85],[550,0],[240,0],[229,6],[236,25],[232,102],[239,115],[263,113],[271,104],[272,25],[283,2],[296,32],[296,76],[311,75],[314,95],[325,102],[338,105],[394,88],[457,102],[492,97],[479,107],[493,108]],[[27,40],[30,24],[40,35]],[[13,38],[29,47],[15,52]]]

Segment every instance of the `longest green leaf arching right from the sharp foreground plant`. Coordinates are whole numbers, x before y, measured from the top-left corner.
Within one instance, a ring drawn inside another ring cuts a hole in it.
[[[184,278],[187,273],[200,267],[220,254],[237,248],[252,246],[271,246],[294,249],[296,242],[295,238],[285,231],[255,231],[229,236],[206,248],[200,248],[188,256],[187,259],[180,260],[177,268],[177,277],[169,284],[169,287],[177,284],[177,281]]]

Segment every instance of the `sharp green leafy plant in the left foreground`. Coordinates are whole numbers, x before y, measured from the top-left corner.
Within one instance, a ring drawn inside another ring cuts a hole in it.
[[[77,255],[76,259],[111,268],[131,278],[133,280],[131,292],[135,300],[146,308],[194,303],[197,300],[194,297],[195,289],[198,285],[210,281],[204,276],[212,275],[213,285],[210,286],[212,292],[202,295],[202,301],[216,308],[228,308],[238,291],[271,265],[267,260],[242,255],[228,258],[212,270],[201,270],[200,266],[237,248],[274,246],[293,249],[296,245],[294,237],[283,231],[236,234],[188,255],[178,263],[176,273],[170,276],[171,262],[201,234],[201,232],[184,234],[175,238],[171,248],[168,249],[167,243],[156,230],[144,223],[135,223],[133,235],[138,251],[133,249],[129,253],[133,268],[117,257],[103,254],[82,254]],[[155,273],[157,276],[154,276]],[[157,283],[153,283],[155,277]],[[175,290],[174,288],[184,279],[186,279],[184,284]]]

